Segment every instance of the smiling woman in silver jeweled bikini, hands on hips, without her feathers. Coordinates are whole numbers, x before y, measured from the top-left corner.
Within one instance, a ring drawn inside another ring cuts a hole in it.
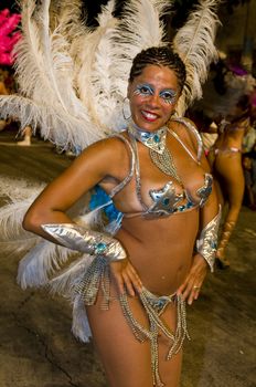
[[[184,82],[184,64],[169,48],[139,53],[127,129],[85,149],[23,222],[94,255],[76,293],[111,387],[179,385],[184,302],[198,299],[213,268],[220,216],[212,177],[192,123],[171,118]],[[124,213],[115,238],[66,215],[95,185]]]

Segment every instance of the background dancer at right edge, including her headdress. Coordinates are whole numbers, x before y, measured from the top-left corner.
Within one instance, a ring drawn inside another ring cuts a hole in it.
[[[213,66],[214,69],[214,66]],[[203,111],[213,125],[202,130],[215,133],[217,138],[207,158],[217,181],[217,195],[223,210],[216,264],[230,268],[227,245],[241,211],[245,181],[242,166],[243,139],[250,124],[249,94],[255,85],[254,77],[242,66],[231,67],[220,61],[216,75],[205,84],[203,98],[195,109]]]

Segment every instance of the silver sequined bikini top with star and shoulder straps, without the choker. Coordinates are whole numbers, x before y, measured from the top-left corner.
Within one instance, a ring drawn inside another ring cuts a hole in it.
[[[199,164],[199,160],[202,155],[202,140],[201,137],[195,129],[195,127],[188,121],[179,118],[175,119],[177,122],[181,122],[184,124],[191,132],[193,132],[196,136],[198,143],[199,143],[199,149],[198,149],[198,156],[194,157],[194,155],[190,151],[190,149],[183,144],[183,142],[180,139],[180,137],[174,133],[170,132],[177,140],[183,146],[183,148],[186,150],[186,153],[194,159],[195,163]],[[168,130],[169,132],[169,130]],[[118,194],[135,176],[136,177],[136,194],[138,197],[138,200],[142,207],[142,211],[139,212],[129,212],[125,213],[124,216],[126,218],[142,216],[145,218],[158,218],[158,217],[164,217],[170,216],[173,213],[184,212],[186,210],[193,209],[195,207],[203,207],[206,202],[210,194],[212,192],[212,185],[213,185],[213,177],[210,174],[204,175],[204,185],[199,188],[195,192],[196,200],[192,198],[190,192],[182,187],[182,192],[178,194],[175,190],[174,182],[172,180],[168,181],[162,188],[160,189],[150,189],[149,196],[152,199],[152,205],[147,206],[141,196],[141,182],[140,182],[140,168],[139,168],[139,157],[136,146],[136,139],[134,137],[130,137],[130,140],[125,138],[121,135],[117,135],[119,138],[121,138],[130,148],[131,151],[131,163],[130,163],[130,171],[129,175],[122,180],[118,186],[116,186],[113,191],[110,192],[110,197],[113,198],[116,194]],[[179,181],[180,182],[180,181]]]

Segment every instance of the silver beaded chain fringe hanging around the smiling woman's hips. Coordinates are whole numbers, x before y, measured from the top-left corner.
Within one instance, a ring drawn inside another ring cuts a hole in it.
[[[104,294],[100,307],[103,310],[108,310],[113,300],[110,297],[110,272],[109,264],[103,257],[95,258],[87,272],[79,279],[79,282],[74,289],[76,297],[79,300],[81,308],[85,307],[85,305],[95,304],[99,289]],[[185,337],[190,338],[186,330],[185,302],[177,294],[157,296],[146,287],[138,294],[138,297],[148,316],[149,327],[142,326],[134,316],[127,294],[121,294],[119,296],[119,302],[124,316],[136,339],[141,343],[146,341],[150,342],[153,385],[156,387],[163,387],[164,384],[161,381],[159,375],[158,335],[159,333],[164,334],[170,342],[166,357],[167,360],[169,360],[173,355],[179,353]],[[161,314],[170,303],[173,303],[177,307],[178,318],[174,333],[171,332],[161,320]],[[81,310],[76,310],[76,313],[79,314]],[[75,317],[74,315],[74,318]]]

